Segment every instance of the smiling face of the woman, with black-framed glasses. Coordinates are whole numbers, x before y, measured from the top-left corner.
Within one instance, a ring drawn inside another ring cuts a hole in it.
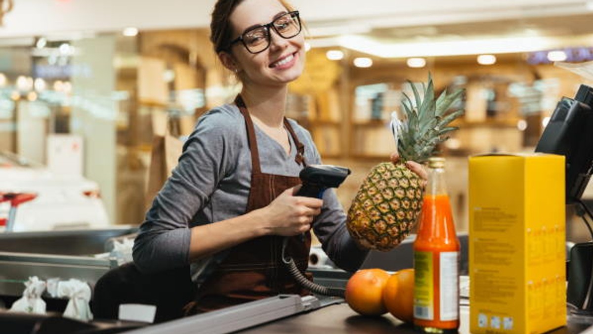
[[[243,82],[244,98],[254,95],[251,91],[282,86],[302,74],[305,38],[298,11],[276,0],[251,0],[238,4],[229,20],[231,40],[215,43],[215,50],[223,65]],[[212,31],[215,40],[217,34],[214,28]]]

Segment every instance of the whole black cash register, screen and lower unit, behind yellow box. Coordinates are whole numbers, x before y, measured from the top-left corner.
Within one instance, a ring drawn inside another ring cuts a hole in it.
[[[593,214],[582,200],[593,169],[593,88],[581,85],[574,98],[558,102],[535,151],[565,156],[566,204],[575,206],[593,240]],[[593,315],[592,263],[592,242],[570,249],[566,302],[573,314]]]

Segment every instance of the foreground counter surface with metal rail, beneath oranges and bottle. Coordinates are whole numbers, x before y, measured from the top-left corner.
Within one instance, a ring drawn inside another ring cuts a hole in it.
[[[417,333],[413,327],[385,314],[365,317],[342,300],[322,301],[297,295],[270,297],[211,313],[157,325],[133,322],[77,322],[59,316],[28,316],[0,312],[0,327],[7,333],[160,334],[160,333]],[[469,333],[468,306],[460,306],[460,333]],[[569,317],[568,325],[551,333],[590,333],[587,321]]]

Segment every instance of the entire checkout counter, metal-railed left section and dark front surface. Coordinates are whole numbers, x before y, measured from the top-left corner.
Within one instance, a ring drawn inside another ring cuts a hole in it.
[[[23,292],[28,276],[77,278],[91,287],[103,273],[117,266],[104,254],[113,240],[134,233],[132,228],[95,231],[55,231],[44,233],[0,234],[0,298],[7,306]],[[467,234],[460,234],[462,246],[461,275],[467,275]],[[413,237],[391,252],[372,252],[364,268],[397,271],[412,266]],[[312,266],[315,282],[345,287],[349,273],[331,268],[331,264]],[[225,308],[170,322],[147,325],[129,321],[95,319],[79,322],[62,317],[60,307],[66,301],[44,297],[49,313],[40,316],[0,311],[0,329],[7,333],[411,333],[410,325],[385,314],[360,316],[337,297],[281,295]],[[468,333],[467,298],[460,306],[460,333]],[[61,302],[61,303],[60,303]],[[91,301],[92,303],[92,301]],[[52,310],[51,308],[55,309]],[[52,313],[52,311],[55,311]],[[568,326],[554,332],[576,334],[593,332],[593,320],[570,316]]]

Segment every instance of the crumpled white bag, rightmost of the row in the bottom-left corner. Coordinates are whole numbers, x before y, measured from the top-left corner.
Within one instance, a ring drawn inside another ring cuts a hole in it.
[[[74,278],[61,281],[58,283],[58,296],[70,299],[63,316],[82,321],[93,320],[93,313],[88,305],[91,300],[91,288],[86,282]]]

